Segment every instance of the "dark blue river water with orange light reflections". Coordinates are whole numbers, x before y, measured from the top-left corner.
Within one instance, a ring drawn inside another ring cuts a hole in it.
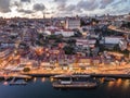
[[[49,78],[34,78],[25,86],[0,82],[0,98],[130,98],[130,79],[106,82],[95,89],[54,89]]]

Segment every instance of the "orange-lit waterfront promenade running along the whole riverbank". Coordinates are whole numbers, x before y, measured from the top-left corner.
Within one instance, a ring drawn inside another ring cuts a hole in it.
[[[31,69],[29,72],[6,72],[0,74],[0,78],[3,77],[29,77],[29,76],[53,76],[53,75],[61,75],[61,74],[90,74],[94,77],[128,77],[130,78],[130,64],[126,65],[104,65],[104,66],[91,66],[89,69],[81,69],[81,68],[56,68],[56,69]],[[27,75],[27,76],[26,76]]]

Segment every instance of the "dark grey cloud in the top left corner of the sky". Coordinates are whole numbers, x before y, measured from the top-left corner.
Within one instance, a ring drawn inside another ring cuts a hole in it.
[[[10,0],[0,0],[0,12],[2,13],[11,12]]]

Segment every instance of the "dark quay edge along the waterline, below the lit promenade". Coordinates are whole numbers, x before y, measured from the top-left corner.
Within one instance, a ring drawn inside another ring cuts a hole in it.
[[[66,75],[65,74],[60,74],[60,73],[22,73],[22,74],[10,74],[10,75],[0,75],[0,79],[8,79],[8,78],[26,78],[30,79],[31,77],[53,77],[55,75]],[[114,78],[130,78],[129,74],[96,74],[96,73],[72,73],[70,75],[81,75],[81,76],[88,76],[91,75],[91,77],[114,77]]]

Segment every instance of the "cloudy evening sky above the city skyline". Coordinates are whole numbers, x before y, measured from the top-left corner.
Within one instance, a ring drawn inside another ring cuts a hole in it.
[[[130,13],[130,0],[0,0],[0,16],[47,17]]]

